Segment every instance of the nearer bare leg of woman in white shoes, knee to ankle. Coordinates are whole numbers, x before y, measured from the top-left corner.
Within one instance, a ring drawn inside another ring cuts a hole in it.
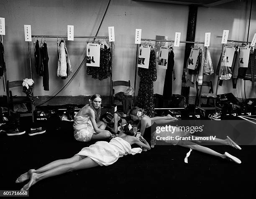
[[[181,140],[181,141],[178,142],[177,145],[187,147],[187,148],[191,148],[191,149],[194,149],[196,151],[201,151],[203,153],[207,153],[207,154],[210,154],[212,156],[218,156],[220,158],[226,158],[226,156],[224,154],[220,154],[216,151],[213,151],[210,148],[198,145],[196,143],[192,143],[189,140]]]

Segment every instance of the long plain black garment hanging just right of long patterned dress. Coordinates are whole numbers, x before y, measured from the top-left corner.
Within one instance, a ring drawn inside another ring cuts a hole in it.
[[[164,99],[167,99],[167,100],[172,99],[172,73],[174,75],[173,80],[175,80],[173,49],[168,53],[167,69],[166,69],[165,79],[164,79],[163,97]]]

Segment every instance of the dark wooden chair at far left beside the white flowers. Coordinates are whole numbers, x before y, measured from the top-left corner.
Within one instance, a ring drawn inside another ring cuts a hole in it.
[[[22,104],[22,103],[31,104],[30,112],[18,112],[18,114],[20,114],[20,117],[32,116],[32,121],[34,122],[34,115],[33,115],[34,104],[31,103],[31,100],[26,96],[13,97],[12,92],[10,91],[10,88],[13,88],[13,87],[21,87],[23,89],[22,83],[23,81],[13,81],[13,82],[7,81],[6,93],[7,93],[9,116],[10,116],[10,110],[13,109],[14,104]]]

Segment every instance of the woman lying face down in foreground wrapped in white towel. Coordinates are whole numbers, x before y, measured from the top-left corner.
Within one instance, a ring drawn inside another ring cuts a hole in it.
[[[144,143],[143,143],[144,142]],[[145,144],[146,143],[146,144]],[[124,126],[118,137],[113,138],[110,142],[98,141],[89,147],[74,155],[72,158],[53,161],[37,170],[30,169],[18,177],[16,183],[20,183],[30,179],[28,184],[23,186],[20,191],[27,191],[36,182],[57,176],[62,173],[76,171],[84,168],[92,168],[95,166],[108,166],[115,163],[118,158],[127,154],[141,153],[141,148],[131,148],[132,144],[140,145],[143,148],[150,149],[147,141],[141,137],[140,140],[134,137],[133,129],[129,130],[128,125]]]

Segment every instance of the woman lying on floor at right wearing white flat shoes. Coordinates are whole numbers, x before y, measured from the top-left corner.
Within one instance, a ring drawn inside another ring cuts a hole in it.
[[[139,112],[139,113],[138,113]],[[139,116],[140,115],[140,116]],[[170,121],[166,120],[159,120],[159,119],[162,119],[161,117],[153,117],[153,118],[150,118],[146,115],[143,114],[143,111],[138,108],[138,107],[134,107],[131,111],[130,111],[130,116],[132,117],[132,119],[134,121],[136,120],[140,120],[141,122],[141,130],[142,129],[145,129],[146,127],[146,131],[149,131],[151,132],[151,123],[152,123],[152,120],[155,120],[154,122],[156,122],[156,124],[170,124]],[[167,117],[167,116],[166,116]],[[159,121],[156,121],[156,120],[159,120]],[[144,132],[144,133],[145,133]],[[149,133],[147,132],[147,134]],[[141,133],[142,135],[142,133]],[[173,133],[170,133],[169,131],[161,131],[161,133],[156,133],[156,131],[154,131],[153,135],[151,135],[151,137],[157,137],[157,136],[160,136],[160,137],[164,137],[164,138],[167,138],[168,136],[172,136],[174,139],[173,140],[163,140],[164,142],[166,143],[169,143],[169,144],[172,144],[172,145],[179,145],[179,146],[183,146],[183,147],[187,147],[187,148],[191,148],[191,149],[194,149],[196,151],[201,151],[203,153],[207,153],[207,154],[210,154],[210,155],[213,155],[213,156],[218,156],[220,158],[224,158],[224,159],[228,159],[230,161],[234,161],[238,164],[241,163],[241,161],[236,158],[235,156],[231,156],[229,153],[225,152],[224,154],[220,154],[216,151],[213,151],[212,149],[210,148],[207,148],[207,147],[204,147],[204,146],[201,146],[201,145],[198,145],[198,143],[202,143],[202,139],[200,138],[205,138],[203,140],[203,142],[205,143],[212,143],[212,144],[224,144],[224,145],[230,145],[232,146],[233,148],[236,148],[236,149],[240,149],[241,150],[241,147],[238,146],[233,140],[231,140],[228,136],[227,136],[227,139],[223,140],[223,139],[219,139],[219,138],[215,138],[215,139],[211,139],[212,137],[200,137],[200,136],[195,136],[195,135],[191,135],[190,132],[184,132],[184,131],[181,131],[181,130],[175,130]],[[146,135],[145,135],[146,136]],[[182,139],[183,137],[192,137],[193,136],[193,139]],[[176,139],[175,139],[176,138]],[[177,138],[180,138],[180,139],[177,139]],[[193,140],[192,141],[189,141],[189,140]]]

